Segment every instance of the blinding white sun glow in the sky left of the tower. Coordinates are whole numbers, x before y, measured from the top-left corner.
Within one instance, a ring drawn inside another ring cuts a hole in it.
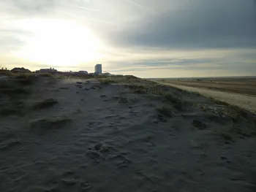
[[[33,19],[22,20],[20,25],[32,32],[23,39],[27,46],[17,53],[22,58],[52,66],[75,66],[102,57],[102,42],[78,23]]]

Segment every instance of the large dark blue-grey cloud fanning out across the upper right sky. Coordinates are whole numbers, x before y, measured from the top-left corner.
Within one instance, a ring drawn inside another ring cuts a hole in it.
[[[113,45],[165,48],[256,47],[256,10],[250,1],[192,1],[110,31]]]

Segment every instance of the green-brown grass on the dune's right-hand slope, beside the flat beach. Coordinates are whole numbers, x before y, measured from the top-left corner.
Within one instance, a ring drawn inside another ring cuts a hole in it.
[[[170,104],[170,106],[172,106],[174,109],[178,111],[189,109],[189,101],[186,101],[184,97],[187,96],[190,98],[191,96],[202,96],[198,93],[190,93],[188,91],[172,87],[171,85],[162,85],[158,82],[154,82],[151,80],[143,80],[134,76],[100,77],[98,78],[98,80],[102,82],[102,84],[107,85],[112,83],[124,85],[136,94],[149,93],[156,96],[160,96],[163,99],[163,101],[166,101]],[[219,115],[231,118],[231,120],[233,120],[233,123],[238,123],[239,120],[243,119],[252,120],[256,118],[255,115],[252,114],[252,112],[244,110],[240,107],[227,104],[226,102],[219,101],[217,99],[211,98],[210,101],[213,101],[215,104],[217,104],[217,106],[222,106],[219,108]],[[167,117],[172,116],[172,111],[170,108],[162,107],[158,108],[157,111],[160,114],[165,115]],[[208,110],[205,109],[205,112],[207,111]],[[255,123],[256,126],[256,120],[254,120],[253,122]]]

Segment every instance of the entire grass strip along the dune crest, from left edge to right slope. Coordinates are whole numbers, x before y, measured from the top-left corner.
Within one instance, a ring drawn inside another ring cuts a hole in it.
[[[1,70],[0,70],[1,74]],[[139,77],[135,77],[132,75],[115,75],[115,76],[103,76],[103,75],[91,75],[91,74],[83,74],[79,76],[65,75],[65,74],[49,74],[49,73],[25,73],[25,74],[12,74],[11,72],[7,72],[7,76],[9,76],[14,83],[10,82],[1,82],[0,83],[0,91],[1,93],[9,93],[9,94],[20,94],[20,93],[28,93],[24,90],[24,86],[20,87],[18,85],[31,85],[36,82],[38,77],[51,77],[53,79],[96,79],[102,83],[102,85],[110,85],[110,84],[119,84],[124,85],[124,87],[129,88],[136,94],[153,94],[155,96],[161,96],[162,99],[166,102],[169,102],[176,110],[184,110],[186,109],[187,102],[184,101],[184,96],[189,96],[187,91],[181,90],[179,88],[174,88],[171,85],[162,85],[159,82],[154,82],[151,80],[144,80]],[[200,96],[200,95],[198,95]],[[225,110],[223,110],[223,114],[233,118],[234,122],[239,118],[249,118],[252,117],[252,114],[240,107],[235,107],[225,102],[211,99],[214,103],[218,105],[225,106]],[[228,110],[227,110],[228,109]],[[207,111],[207,110],[206,110]]]

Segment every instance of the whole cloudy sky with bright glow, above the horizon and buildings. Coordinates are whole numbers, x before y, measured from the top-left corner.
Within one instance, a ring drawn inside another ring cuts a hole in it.
[[[0,66],[256,76],[256,0],[0,0]]]

